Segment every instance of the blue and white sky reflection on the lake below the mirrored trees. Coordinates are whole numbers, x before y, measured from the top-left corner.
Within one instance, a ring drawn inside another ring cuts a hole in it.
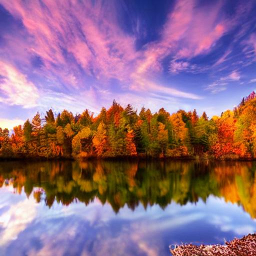
[[[55,201],[49,209],[32,194],[0,189],[2,255],[170,255],[170,244],[223,244],[256,230],[242,205],[213,195],[207,203],[171,202],[164,210],[156,204],[146,210],[141,203],[135,210],[124,205],[116,214],[97,198],[86,207]]]

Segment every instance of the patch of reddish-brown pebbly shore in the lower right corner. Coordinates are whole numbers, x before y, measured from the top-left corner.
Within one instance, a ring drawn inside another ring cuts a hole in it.
[[[255,256],[256,233],[248,234],[242,238],[234,238],[224,245],[181,244],[172,249],[172,256]]]

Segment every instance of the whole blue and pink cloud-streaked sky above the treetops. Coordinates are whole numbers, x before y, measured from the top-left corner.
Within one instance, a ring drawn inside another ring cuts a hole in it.
[[[256,89],[255,0],[0,0],[0,126],[115,99],[220,114]]]

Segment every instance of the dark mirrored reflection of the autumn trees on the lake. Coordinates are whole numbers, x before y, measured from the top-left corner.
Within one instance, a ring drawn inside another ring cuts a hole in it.
[[[0,186],[22,188],[27,197],[51,207],[95,198],[118,212],[126,205],[134,210],[171,202],[206,201],[209,195],[242,205],[256,217],[255,162],[208,161],[45,161],[0,164]]]

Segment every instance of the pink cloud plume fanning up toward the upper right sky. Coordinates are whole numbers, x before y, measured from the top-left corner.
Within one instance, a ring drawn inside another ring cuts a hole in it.
[[[220,1],[212,2],[210,7],[211,11],[208,12],[204,7],[198,7],[196,0],[176,1],[162,28],[161,38],[147,45],[143,57],[137,62],[137,71],[158,72],[161,70],[161,60],[168,55],[174,55],[175,63],[170,63],[170,72],[175,73],[178,70],[174,65],[179,68],[178,64],[181,65],[182,62],[178,59],[191,59],[196,55],[208,53],[235,25],[221,15]],[[188,63],[188,60],[184,62]],[[200,70],[200,67],[198,68]],[[183,66],[181,69],[189,68]]]

